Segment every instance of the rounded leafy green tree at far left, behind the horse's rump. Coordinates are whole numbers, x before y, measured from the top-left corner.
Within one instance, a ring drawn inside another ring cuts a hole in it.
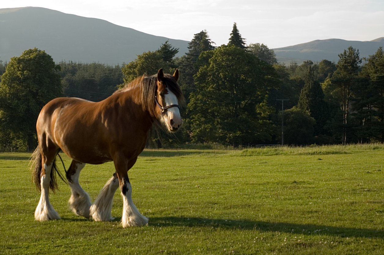
[[[10,59],[0,82],[0,131],[9,136],[8,143],[35,148],[41,108],[62,95],[59,69],[50,55],[37,48]]]

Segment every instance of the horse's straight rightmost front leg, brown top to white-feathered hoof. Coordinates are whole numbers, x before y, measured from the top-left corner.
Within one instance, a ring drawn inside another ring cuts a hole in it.
[[[128,170],[136,163],[136,160],[137,158],[129,162],[125,159],[117,159],[114,161],[123,199],[122,227],[142,226],[148,223],[148,218],[140,214],[132,201],[132,186],[129,182]]]

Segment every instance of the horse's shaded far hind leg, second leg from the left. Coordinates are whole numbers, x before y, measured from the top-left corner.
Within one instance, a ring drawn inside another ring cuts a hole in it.
[[[68,184],[71,188],[71,197],[68,205],[75,214],[89,218],[89,207],[92,204],[91,198],[79,184],[79,174],[84,166],[84,163],[72,160],[71,166],[66,173]]]

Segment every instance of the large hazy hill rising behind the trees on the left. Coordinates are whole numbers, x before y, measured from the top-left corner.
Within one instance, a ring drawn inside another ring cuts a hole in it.
[[[149,35],[105,20],[85,18],[40,7],[0,9],[0,60],[9,62],[31,48],[45,50],[55,62],[109,65],[129,63],[136,55],[169,40],[188,52],[188,41]]]

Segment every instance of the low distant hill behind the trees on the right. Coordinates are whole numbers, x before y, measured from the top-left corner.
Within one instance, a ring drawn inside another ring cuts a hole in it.
[[[323,59],[337,63],[339,61],[338,54],[343,53],[344,49],[348,49],[349,46],[359,49],[360,58],[368,57],[376,53],[380,46],[384,48],[384,37],[372,41],[315,40],[309,43],[276,48],[273,51],[275,51],[277,61],[285,64],[292,61],[301,64],[305,60],[320,62]]]

